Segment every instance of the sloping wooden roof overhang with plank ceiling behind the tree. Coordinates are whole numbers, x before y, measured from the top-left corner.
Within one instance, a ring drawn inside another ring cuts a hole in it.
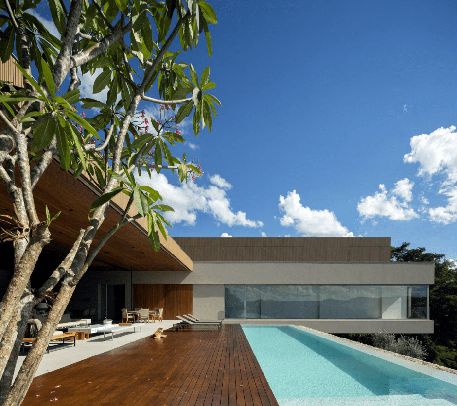
[[[18,173],[16,184],[19,184]],[[35,186],[34,198],[40,220],[46,219],[46,205],[51,217],[61,211],[60,216],[49,227],[51,243],[56,254],[57,251],[62,251],[59,247],[64,251],[70,250],[78,237],[79,230],[88,224],[87,216],[91,204],[100,195],[101,191],[84,175],[74,180],[71,173],[60,169],[58,162],[53,161],[50,164]],[[119,221],[121,210],[126,207],[127,201],[128,197],[123,193],[114,197],[92,247]],[[137,214],[135,205],[132,206],[129,216]],[[2,182],[0,182],[0,214],[14,214],[13,203]],[[192,271],[193,269],[192,260],[170,236],[165,240],[160,235],[160,250],[158,253],[154,251],[147,237],[146,218],[120,228],[106,242],[92,265],[97,267],[97,270],[105,268],[110,271],[116,269]]]

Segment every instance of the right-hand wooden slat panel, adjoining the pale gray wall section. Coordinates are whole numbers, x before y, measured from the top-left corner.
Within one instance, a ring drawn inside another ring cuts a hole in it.
[[[163,318],[174,320],[186,313],[193,314],[193,285],[163,285]]]

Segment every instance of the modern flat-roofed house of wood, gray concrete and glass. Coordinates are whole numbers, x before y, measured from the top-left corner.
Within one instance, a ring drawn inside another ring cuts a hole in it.
[[[12,60],[0,79],[16,84]],[[18,84],[20,85],[20,83]],[[53,162],[34,189],[40,219],[45,205],[59,218],[34,272],[36,287],[70,250],[101,190],[84,174]],[[124,199],[125,198],[125,199]],[[117,195],[97,236],[120,218]],[[13,214],[0,182],[0,214]],[[134,216],[136,208],[130,209]],[[171,238],[155,253],[140,219],[121,228],[78,284],[70,310],[96,309],[120,319],[120,309],[164,309],[164,319],[193,313],[242,324],[296,324],[329,333],[433,333],[428,287],[434,263],[390,261],[390,238]],[[95,241],[95,243],[97,240]],[[12,244],[0,245],[0,296],[13,271]]]

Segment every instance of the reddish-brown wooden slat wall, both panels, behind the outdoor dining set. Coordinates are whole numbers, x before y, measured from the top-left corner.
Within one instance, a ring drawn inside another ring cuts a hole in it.
[[[133,308],[163,308],[163,318],[193,313],[192,284],[133,284]]]

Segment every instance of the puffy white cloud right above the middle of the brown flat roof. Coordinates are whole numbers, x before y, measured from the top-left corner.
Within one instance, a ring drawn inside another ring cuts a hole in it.
[[[333,211],[303,207],[300,196],[295,190],[287,193],[287,197],[280,195],[279,201],[279,208],[284,212],[280,222],[284,227],[293,225],[303,236],[354,237],[354,233],[336,219]]]

